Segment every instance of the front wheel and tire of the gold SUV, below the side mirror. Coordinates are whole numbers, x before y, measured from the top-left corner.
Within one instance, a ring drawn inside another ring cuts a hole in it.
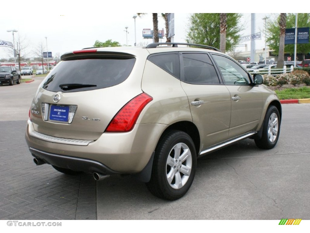
[[[261,139],[255,139],[257,147],[262,149],[272,149],[276,146],[280,135],[281,118],[277,107],[268,107],[264,122],[263,135]]]

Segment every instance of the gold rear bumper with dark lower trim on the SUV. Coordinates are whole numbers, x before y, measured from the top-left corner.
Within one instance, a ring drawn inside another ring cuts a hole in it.
[[[146,167],[166,127],[137,124],[130,132],[103,133],[88,145],[74,145],[31,136],[35,131],[28,120],[25,139],[34,157],[57,167],[102,174],[134,174]]]

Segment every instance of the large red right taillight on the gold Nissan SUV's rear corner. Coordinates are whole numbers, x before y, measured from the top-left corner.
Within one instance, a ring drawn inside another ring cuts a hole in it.
[[[117,112],[105,131],[128,132],[132,130],[141,111],[152,100],[153,98],[146,93],[139,94]]]

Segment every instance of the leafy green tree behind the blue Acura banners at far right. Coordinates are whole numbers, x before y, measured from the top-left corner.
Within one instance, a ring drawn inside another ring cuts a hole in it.
[[[279,44],[280,44],[280,15],[272,15],[267,21],[267,39],[266,42],[271,50],[275,51],[275,54],[279,54]],[[297,26],[310,27],[310,13],[298,13]],[[295,14],[286,14],[286,28],[295,28]],[[307,44],[297,44],[297,53],[307,54],[310,52],[310,43]],[[284,53],[294,54],[294,44],[286,44],[284,46]]]

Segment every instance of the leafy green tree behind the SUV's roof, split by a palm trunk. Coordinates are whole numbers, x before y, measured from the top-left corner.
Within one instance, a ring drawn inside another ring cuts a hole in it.
[[[238,44],[239,25],[242,14],[226,13],[226,51],[232,51]],[[188,43],[220,47],[220,13],[194,13],[189,18]]]

